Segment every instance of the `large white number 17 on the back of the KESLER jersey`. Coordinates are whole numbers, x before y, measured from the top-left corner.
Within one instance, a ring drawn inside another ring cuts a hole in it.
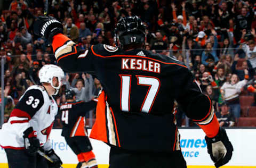
[[[122,74],[121,78],[121,110],[130,111],[130,93],[131,93],[131,77],[132,75]],[[142,75],[136,75],[138,85],[149,86],[146,97],[143,100],[140,111],[149,113],[153,106],[154,100],[159,90],[160,81],[155,77],[147,77]]]

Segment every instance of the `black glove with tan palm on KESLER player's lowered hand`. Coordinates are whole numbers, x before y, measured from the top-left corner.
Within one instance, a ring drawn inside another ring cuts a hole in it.
[[[220,127],[218,135],[209,138],[205,136],[207,150],[214,162],[215,167],[220,167],[229,162],[233,152],[233,146],[228,139],[224,128]]]

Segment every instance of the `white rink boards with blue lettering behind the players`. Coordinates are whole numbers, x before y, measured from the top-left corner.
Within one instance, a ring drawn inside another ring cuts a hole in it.
[[[182,154],[189,168],[214,167],[207,154],[204,132],[201,129],[179,129]],[[89,130],[90,132],[90,130]],[[53,129],[50,135],[52,147],[60,156],[63,167],[74,167],[78,162],[76,155],[71,151],[65,139],[60,136],[60,129]],[[234,147],[231,161],[223,167],[255,167],[256,168],[256,129],[227,129],[227,134]],[[98,140],[91,139],[93,152],[100,168],[108,167],[109,147]],[[121,144],[122,146],[122,144]],[[7,167],[4,150],[0,147],[0,167]],[[210,166],[211,165],[211,166]]]

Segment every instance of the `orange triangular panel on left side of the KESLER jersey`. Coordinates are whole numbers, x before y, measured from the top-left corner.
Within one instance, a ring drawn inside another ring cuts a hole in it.
[[[103,142],[108,142],[107,139],[107,128],[106,128],[106,102],[105,102],[105,92],[99,95],[98,104],[96,107],[96,120],[93,124],[90,138],[101,140]]]

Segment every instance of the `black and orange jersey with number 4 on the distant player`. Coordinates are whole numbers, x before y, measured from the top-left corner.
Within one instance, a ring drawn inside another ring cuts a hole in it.
[[[89,102],[66,102],[59,107],[61,123],[63,125],[61,136],[75,137],[87,136],[85,130],[85,113],[97,105],[96,99]]]

